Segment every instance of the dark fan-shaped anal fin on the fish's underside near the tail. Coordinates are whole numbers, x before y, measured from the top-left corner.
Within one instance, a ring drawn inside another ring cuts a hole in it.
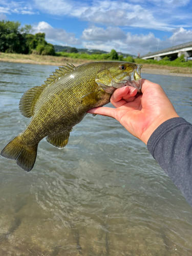
[[[69,141],[69,136],[71,131],[72,129],[69,129],[67,131],[50,134],[46,137],[46,140],[53,146],[56,146],[58,148],[63,148],[67,145]]]

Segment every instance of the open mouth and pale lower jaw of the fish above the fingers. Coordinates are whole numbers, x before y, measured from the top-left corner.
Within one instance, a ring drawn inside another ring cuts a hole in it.
[[[130,75],[123,78],[122,81],[112,82],[112,87],[115,89],[121,88],[124,86],[132,86],[137,89],[137,92],[141,92],[141,68],[142,65],[137,65],[136,68],[131,72]]]

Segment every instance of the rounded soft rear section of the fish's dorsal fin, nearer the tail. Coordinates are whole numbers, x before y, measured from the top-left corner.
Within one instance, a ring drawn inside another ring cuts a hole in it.
[[[33,116],[34,106],[44,87],[35,86],[27,90],[19,101],[19,110],[27,118]]]

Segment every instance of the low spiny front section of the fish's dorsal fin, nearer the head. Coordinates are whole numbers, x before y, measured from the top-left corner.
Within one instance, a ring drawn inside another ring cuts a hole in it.
[[[47,78],[47,81],[45,81],[45,84],[42,84],[43,87],[48,86],[48,84],[52,83],[55,79],[66,75],[67,73],[73,71],[75,69],[75,66],[71,63],[67,63],[66,66],[62,65],[62,68],[59,67],[59,69],[56,69],[55,72],[53,72],[53,75],[50,75]]]

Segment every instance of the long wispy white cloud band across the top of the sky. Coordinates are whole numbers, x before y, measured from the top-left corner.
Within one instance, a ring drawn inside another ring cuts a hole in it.
[[[141,5],[111,0],[96,0],[89,6],[79,1],[35,0],[36,7],[43,12],[54,15],[68,15],[92,23],[112,26],[132,26],[170,31],[166,23],[154,17],[150,9]],[[162,18],[161,18],[162,19]]]

